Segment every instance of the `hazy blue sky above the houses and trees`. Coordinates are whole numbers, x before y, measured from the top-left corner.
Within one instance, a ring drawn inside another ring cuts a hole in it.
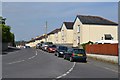
[[[117,2],[3,2],[2,16],[11,26],[15,40],[30,40],[74,21],[76,15],[93,15],[118,23]]]

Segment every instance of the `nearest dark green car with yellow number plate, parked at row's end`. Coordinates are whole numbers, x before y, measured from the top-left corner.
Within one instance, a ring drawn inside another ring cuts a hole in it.
[[[67,52],[64,54],[64,59],[68,59],[71,62],[72,61],[84,61],[86,62],[87,56],[86,52],[83,49],[78,48],[70,48]]]

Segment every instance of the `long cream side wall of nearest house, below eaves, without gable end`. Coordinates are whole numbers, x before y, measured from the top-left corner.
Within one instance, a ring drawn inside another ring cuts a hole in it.
[[[100,41],[104,34],[111,34],[113,40],[118,40],[118,26],[111,25],[83,25],[81,28],[81,42],[86,43],[88,41],[96,42]]]

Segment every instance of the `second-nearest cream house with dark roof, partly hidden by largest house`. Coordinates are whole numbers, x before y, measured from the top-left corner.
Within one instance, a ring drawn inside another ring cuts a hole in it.
[[[62,44],[73,44],[73,22],[63,22],[61,35]]]

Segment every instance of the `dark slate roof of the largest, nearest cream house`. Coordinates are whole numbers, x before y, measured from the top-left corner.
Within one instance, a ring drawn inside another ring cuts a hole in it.
[[[112,22],[108,19],[99,17],[99,16],[85,16],[85,15],[77,15],[82,24],[98,24],[98,25],[118,25],[115,22]]]

